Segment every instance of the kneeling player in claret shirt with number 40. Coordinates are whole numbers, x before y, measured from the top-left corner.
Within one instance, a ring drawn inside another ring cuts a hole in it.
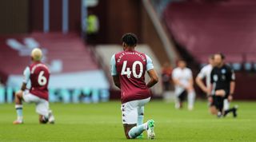
[[[122,36],[123,51],[111,57],[111,74],[114,85],[121,89],[122,124],[127,139],[142,137],[147,131],[149,139],[154,139],[154,120],[143,124],[144,105],[150,101],[150,87],[158,82],[152,60],[145,53],[134,48],[138,38],[135,34]],[[145,73],[150,76],[146,84]]]

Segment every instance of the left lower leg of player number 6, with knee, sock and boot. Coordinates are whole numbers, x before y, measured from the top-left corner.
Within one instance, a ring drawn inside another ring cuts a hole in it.
[[[17,120],[14,120],[13,124],[22,124],[23,123],[23,106],[22,106],[22,91],[15,93],[15,109],[17,112]]]

